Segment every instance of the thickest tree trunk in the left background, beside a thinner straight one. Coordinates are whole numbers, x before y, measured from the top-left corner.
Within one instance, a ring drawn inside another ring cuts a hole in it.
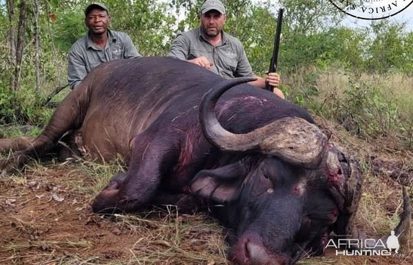
[[[19,90],[19,80],[21,75],[21,63],[23,61],[24,36],[25,36],[25,0],[20,2],[19,28],[17,30],[16,65],[14,67],[14,91]]]

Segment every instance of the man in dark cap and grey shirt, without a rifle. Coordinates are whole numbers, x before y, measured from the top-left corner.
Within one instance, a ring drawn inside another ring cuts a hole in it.
[[[109,11],[103,3],[87,5],[85,25],[89,32],[72,45],[69,53],[67,81],[71,89],[103,62],[140,57],[131,38],[126,33],[109,30],[109,23]]]

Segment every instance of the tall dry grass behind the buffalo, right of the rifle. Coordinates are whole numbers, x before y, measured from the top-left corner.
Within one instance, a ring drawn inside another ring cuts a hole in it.
[[[413,151],[413,78],[400,73],[355,76],[330,69],[300,69],[283,79],[290,99],[366,141]]]

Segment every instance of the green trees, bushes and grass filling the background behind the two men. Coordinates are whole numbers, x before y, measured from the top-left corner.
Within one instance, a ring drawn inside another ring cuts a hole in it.
[[[277,8],[285,8],[278,71],[288,100],[366,139],[394,139],[413,148],[413,32],[403,23],[372,21],[363,28],[340,22],[341,12],[326,0],[223,1],[225,30],[240,38],[258,75],[273,49]],[[8,3],[14,7],[10,21]],[[10,56],[10,28],[19,24],[25,3],[24,49],[17,91]],[[84,0],[0,1],[0,124],[44,126],[52,110],[45,97],[66,83],[67,53],[83,34]],[[140,54],[165,56],[179,32],[197,27],[202,0],[116,1],[105,4],[112,28],[127,32]],[[40,89],[34,89],[34,8],[39,6]],[[55,100],[63,98],[65,89]]]

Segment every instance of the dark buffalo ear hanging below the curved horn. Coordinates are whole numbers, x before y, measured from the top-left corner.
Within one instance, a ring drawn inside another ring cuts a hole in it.
[[[213,170],[201,170],[193,178],[191,190],[202,198],[218,203],[235,200],[246,176],[246,165],[240,161]]]

